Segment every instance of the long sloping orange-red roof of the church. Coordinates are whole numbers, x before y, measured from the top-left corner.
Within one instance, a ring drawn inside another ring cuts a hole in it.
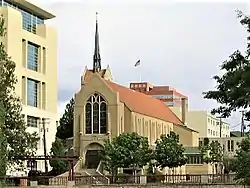
[[[119,93],[121,102],[125,103],[132,111],[177,125],[183,125],[181,120],[162,101],[114,82],[105,81],[114,91]]]

